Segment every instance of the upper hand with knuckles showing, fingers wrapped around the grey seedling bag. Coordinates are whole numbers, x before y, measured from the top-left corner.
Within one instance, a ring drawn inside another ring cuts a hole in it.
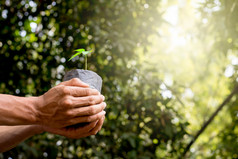
[[[62,82],[38,99],[36,123],[52,128],[63,128],[102,118],[106,107],[104,97],[96,89],[78,78]]]

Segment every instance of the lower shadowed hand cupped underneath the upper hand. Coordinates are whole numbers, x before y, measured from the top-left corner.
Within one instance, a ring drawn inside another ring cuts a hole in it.
[[[62,135],[72,139],[79,139],[83,137],[87,137],[90,135],[96,135],[102,128],[105,116],[102,116],[99,120],[93,121],[90,124],[75,128],[50,128],[50,127],[43,127],[44,131],[48,131],[53,134]]]

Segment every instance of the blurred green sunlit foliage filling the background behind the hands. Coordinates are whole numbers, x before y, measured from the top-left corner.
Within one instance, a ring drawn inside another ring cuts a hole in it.
[[[71,140],[44,133],[2,157],[178,158],[237,80],[238,62],[232,59],[238,59],[238,3],[194,3],[1,0],[0,93],[43,94],[67,70],[83,68],[83,57],[66,61],[73,50],[85,48],[95,52],[88,69],[102,77],[108,105],[96,136]],[[166,18],[176,6],[179,14]],[[179,23],[171,24],[176,16]],[[190,158],[238,157],[236,98]]]

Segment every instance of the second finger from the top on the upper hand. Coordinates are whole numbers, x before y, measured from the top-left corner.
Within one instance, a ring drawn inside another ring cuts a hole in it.
[[[76,97],[72,99],[72,102],[74,103],[75,107],[81,107],[102,103],[104,99],[105,97],[103,95],[93,95],[87,97]]]

